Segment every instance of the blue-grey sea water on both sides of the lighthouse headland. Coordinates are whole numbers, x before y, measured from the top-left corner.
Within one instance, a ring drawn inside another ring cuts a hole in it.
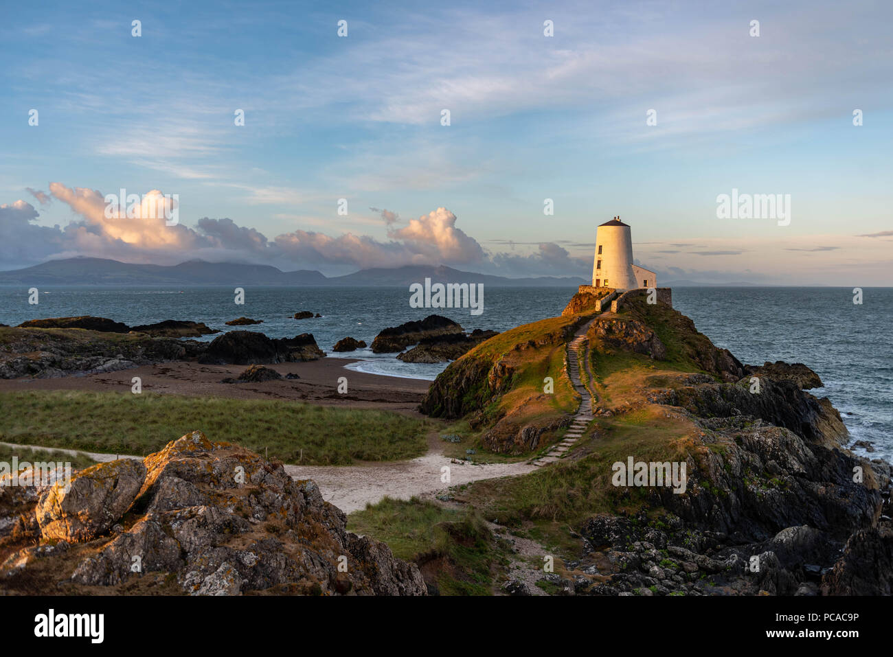
[[[404,363],[394,354],[369,349],[332,353],[346,336],[371,345],[382,328],[421,320],[436,312],[466,330],[503,331],[560,314],[576,290],[544,287],[486,287],[484,312],[409,307],[402,287],[247,287],[244,305],[234,303],[230,287],[183,289],[139,287],[42,287],[37,305],[28,304],[24,287],[0,287],[0,322],[96,315],[129,325],[160,320],[223,322],[240,316],[263,320],[246,328],[270,337],[313,333],[330,357],[361,359],[350,369],[389,376],[436,378],[446,364]],[[851,287],[677,287],[673,305],[714,344],[728,348],[741,362],[804,362],[825,384],[812,391],[828,396],[841,412],[854,440],[868,440],[872,458],[893,461],[893,288],[865,287],[863,304],[853,304]],[[294,320],[296,311],[321,313]],[[213,336],[205,336],[206,341]]]

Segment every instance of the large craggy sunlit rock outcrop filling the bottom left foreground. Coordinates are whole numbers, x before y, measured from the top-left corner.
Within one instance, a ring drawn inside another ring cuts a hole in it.
[[[45,493],[41,507],[68,504],[78,524],[71,514],[60,516],[68,524],[52,525],[59,528],[53,536],[65,538],[6,559],[0,577],[7,591],[78,595],[98,586],[120,595],[143,581],[188,595],[426,594],[418,567],[348,532],[345,514],[322,499],[313,481],[295,481],[281,464],[246,449],[194,431],[136,462],[126,490],[115,494],[107,482],[119,463],[79,474],[78,490],[89,503],[78,501],[75,487],[67,496]],[[90,530],[71,530],[81,527]],[[57,561],[54,579],[29,574],[38,560]],[[46,591],[35,590],[36,582]]]

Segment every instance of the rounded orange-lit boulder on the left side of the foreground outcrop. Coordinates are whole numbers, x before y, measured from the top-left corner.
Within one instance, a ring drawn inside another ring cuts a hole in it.
[[[89,541],[103,535],[127,511],[143,485],[146,467],[132,459],[99,463],[57,481],[35,511],[44,540]]]

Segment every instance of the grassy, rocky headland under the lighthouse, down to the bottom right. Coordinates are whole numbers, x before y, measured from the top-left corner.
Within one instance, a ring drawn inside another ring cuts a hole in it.
[[[566,523],[580,545],[563,590],[889,595],[890,466],[846,449],[839,412],[804,389],[821,387],[814,371],[742,364],[644,294],[618,312],[575,299],[562,318],[484,342],[447,367],[421,410],[468,420],[492,451],[535,455],[579,403],[558,386],[575,331],[585,331],[580,376],[594,418],[580,445],[528,476],[458,495],[510,527]],[[618,485],[613,472],[630,459],[684,466],[684,490]],[[866,554],[880,564],[859,561]]]

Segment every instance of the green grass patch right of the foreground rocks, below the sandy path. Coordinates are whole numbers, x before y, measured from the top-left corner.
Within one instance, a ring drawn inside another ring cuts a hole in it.
[[[505,553],[480,516],[413,497],[385,497],[347,516],[347,528],[388,544],[396,557],[419,564],[440,595],[491,595]],[[430,567],[426,567],[426,564]]]

